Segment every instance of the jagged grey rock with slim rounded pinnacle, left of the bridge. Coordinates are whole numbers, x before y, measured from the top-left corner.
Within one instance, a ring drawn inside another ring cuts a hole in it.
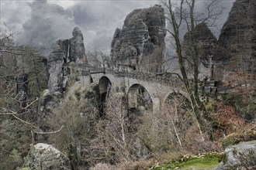
[[[75,63],[87,63],[80,29],[74,28],[72,34],[71,39],[57,40],[47,59],[48,89],[44,90],[40,97],[39,112],[41,116],[37,120],[42,131],[49,129],[46,124],[47,117],[63,100],[66,87],[79,80],[78,68]],[[42,136],[39,138],[43,141]]]

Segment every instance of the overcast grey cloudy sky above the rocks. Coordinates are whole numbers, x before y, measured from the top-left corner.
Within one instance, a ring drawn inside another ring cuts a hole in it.
[[[207,0],[197,0],[203,8]],[[219,29],[227,19],[234,0],[223,0],[223,15]],[[135,8],[147,8],[158,1],[131,0],[0,0],[0,22],[19,31],[19,41],[34,43],[55,42],[56,39],[71,38],[71,32],[78,26],[83,32],[85,49],[110,50],[116,27],[123,27],[126,15]],[[216,35],[218,29],[214,30]]]

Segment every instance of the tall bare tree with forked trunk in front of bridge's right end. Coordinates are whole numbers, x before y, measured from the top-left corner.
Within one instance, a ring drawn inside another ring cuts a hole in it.
[[[182,80],[185,90],[189,93],[189,101],[198,124],[202,116],[202,112],[200,111],[202,104],[199,100],[200,49],[199,42],[195,37],[195,26],[202,22],[211,22],[211,24],[213,24],[216,21],[221,13],[221,8],[217,8],[218,1],[219,0],[208,1],[206,5],[207,12],[204,17],[196,13],[195,0],[161,1],[168,10],[166,19],[171,29],[167,31],[173,39],[172,44],[175,47],[175,53],[178,58],[178,66],[181,74],[176,73],[176,75]],[[185,30],[183,30],[184,28]],[[189,57],[186,56],[182,50],[182,31],[188,32],[189,46],[187,48],[189,49]],[[186,68],[186,63],[190,63],[192,66],[192,80],[189,80],[189,70]],[[200,126],[199,129],[201,129]]]

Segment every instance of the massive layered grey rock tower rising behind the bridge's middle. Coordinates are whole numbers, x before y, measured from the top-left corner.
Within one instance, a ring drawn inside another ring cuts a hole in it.
[[[143,70],[152,63],[159,64],[163,59],[165,35],[164,8],[154,5],[135,9],[126,16],[123,29],[116,29],[114,33],[112,61],[115,66],[126,65],[133,70]],[[154,67],[157,69],[158,65]]]

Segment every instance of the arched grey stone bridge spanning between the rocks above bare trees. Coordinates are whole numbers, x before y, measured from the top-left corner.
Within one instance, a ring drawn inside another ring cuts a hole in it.
[[[98,83],[102,98],[112,93],[121,93],[128,101],[128,108],[138,107],[137,91],[141,87],[149,93],[154,112],[164,108],[165,101],[172,93],[181,93],[185,97],[187,95],[182,89],[182,82],[171,74],[157,75],[129,69],[111,70],[82,64],[78,67],[84,85]]]

